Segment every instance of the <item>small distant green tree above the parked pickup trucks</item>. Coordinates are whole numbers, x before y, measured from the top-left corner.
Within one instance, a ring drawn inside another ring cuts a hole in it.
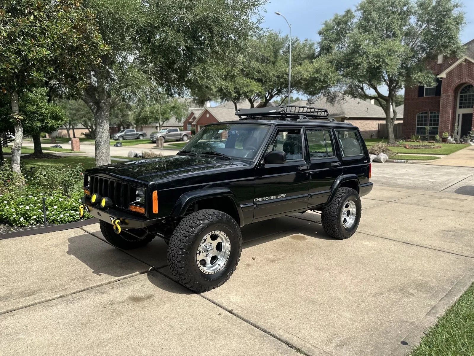
[[[182,122],[188,116],[188,104],[178,98],[168,100],[157,100],[157,103],[139,108],[135,112],[135,124],[137,126],[156,123],[161,130],[164,123],[173,117],[177,122]]]

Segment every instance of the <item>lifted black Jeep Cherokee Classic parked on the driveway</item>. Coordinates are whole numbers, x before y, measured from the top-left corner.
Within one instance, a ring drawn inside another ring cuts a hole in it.
[[[239,109],[206,125],[174,156],[87,169],[83,206],[110,244],[168,243],[177,281],[198,292],[228,280],[240,227],[306,210],[336,239],[355,233],[371,165],[360,131],[325,109]]]

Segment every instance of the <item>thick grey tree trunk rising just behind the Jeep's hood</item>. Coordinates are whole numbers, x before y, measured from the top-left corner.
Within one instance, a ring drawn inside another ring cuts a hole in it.
[[[98,166],[110,164],[110,140],[109,140],[109,113],[108,103],[100,103],[95,118],[95,163]]]

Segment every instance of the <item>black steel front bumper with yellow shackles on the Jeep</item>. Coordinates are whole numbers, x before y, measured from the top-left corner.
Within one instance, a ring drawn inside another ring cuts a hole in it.
[[[146,226],[160,223],[164,220],[163,217],[157,219],[147,219],[146,217],[139,217],[130,213],[116,210],[116,209],[100,209],[99,206],[94,206],[91,203],[90,197],[82,197],[82,203],[84,204],[84,210],[92,216],[99,218],[100,220],[106,221],[112,224],[115,219],[120,220],[121,226],[124,229],[137,229],[144,228]]]

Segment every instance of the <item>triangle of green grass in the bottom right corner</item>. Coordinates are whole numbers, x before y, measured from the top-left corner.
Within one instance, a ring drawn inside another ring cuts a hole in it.
[[[411,356],[474,355],[474,284],[425,334]]]

